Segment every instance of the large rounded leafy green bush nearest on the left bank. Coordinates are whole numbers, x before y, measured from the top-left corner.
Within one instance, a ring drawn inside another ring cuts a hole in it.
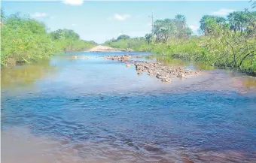
[[[1,65],[36,61],[55,52],[44,24],[29,17],[14,14],[5,18],[1,34]]]

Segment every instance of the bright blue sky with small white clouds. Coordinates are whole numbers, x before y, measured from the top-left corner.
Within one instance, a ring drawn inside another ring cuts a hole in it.
[[[226,17],[245,8],[252,10],[248,1],[2,1],[6,15],[30,15],[44,22],[49,32],[73,29],[81,39],[99,44],[121,34],[144,37],[151,32],[152,12],[155,20],[183,14],[197,33],[203,15]]]

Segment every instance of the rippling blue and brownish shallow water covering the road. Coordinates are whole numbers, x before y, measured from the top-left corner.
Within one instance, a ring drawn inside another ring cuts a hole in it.
[[[253,77],[205,70],[166,84],[101,57],[119,54],[2,70],[2,162],[256,161]]]

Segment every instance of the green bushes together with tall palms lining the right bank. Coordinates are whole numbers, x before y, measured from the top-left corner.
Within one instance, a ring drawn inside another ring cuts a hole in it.
[[[256,75],[256,12],[236,11],[226,18],[206,15],[200,20],[202,35],[192,35],[182,15],[156,20],[154,35],[112,39],[111,47],[151,51],[157,59],[182,59],[230,68]]]

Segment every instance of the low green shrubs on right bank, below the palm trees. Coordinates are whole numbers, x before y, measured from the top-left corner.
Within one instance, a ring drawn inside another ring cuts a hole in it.
[[[239,44],[236,44],[239,42]],[[130,40],[122,42],[130,44]],[[167,43],[137,44],[136,51],[151,52],[152,57],[168,62],[172,59],[196,62],[216,68],[230,69],[256,77],[256,44],[254,38],[227,33],[219,37],[201,36]]]

